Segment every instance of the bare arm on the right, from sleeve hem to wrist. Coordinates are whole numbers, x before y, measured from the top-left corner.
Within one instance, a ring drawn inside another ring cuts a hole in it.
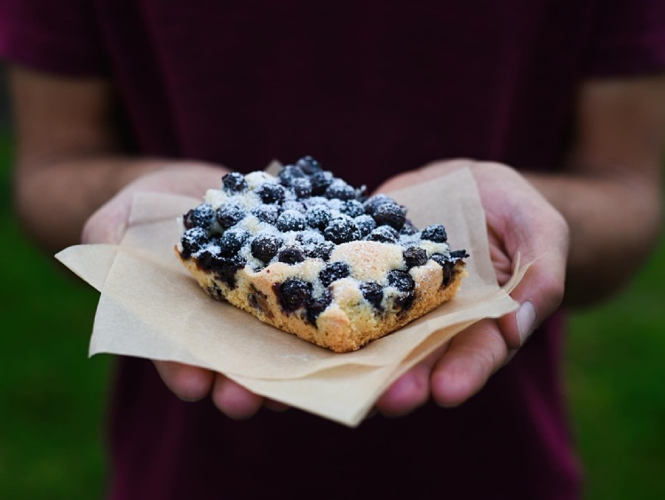
[[[573,306],[618,290],[660,232],[665,75],[585,83],[576,131],[565,171],[529,176],[570,227]]]

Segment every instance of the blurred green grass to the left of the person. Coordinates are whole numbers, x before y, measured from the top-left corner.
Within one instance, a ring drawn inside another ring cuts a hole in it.
[[[99,498],[108,359],[87,358],[97,292],[20,233],[8,143],[0,134],[0,498]]]

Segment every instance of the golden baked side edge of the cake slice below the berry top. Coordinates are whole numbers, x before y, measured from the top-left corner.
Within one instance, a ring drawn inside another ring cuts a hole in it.
[[[356,351],[429,313],[455,296],[466,275],[465,264],[459,260],[444,285],[443,268],[428,260],[424,266],[411,270],[416,282],[412,306],[381,313],[358,299],[358,294],[352,292],[350,279],[338,280],[331,285],[334,303],[319,314],[313,324],[308,321],[304,308],[285,311],[277,297],[275,286],[288,279],[288,265],[275,263],[258,272],[248,272],[249,267],[242,267],[234,274],[231,288],[214,272],[202,269],[194,258],[183,258],[178,247],[175,251],[211,298],[226,300],[260,321],[336,353]]]

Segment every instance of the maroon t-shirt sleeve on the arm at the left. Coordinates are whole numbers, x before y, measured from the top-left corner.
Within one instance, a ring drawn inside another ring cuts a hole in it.
[[[106,60],[91,0],[0,0],[0,58],[66,75],[102,75]]]

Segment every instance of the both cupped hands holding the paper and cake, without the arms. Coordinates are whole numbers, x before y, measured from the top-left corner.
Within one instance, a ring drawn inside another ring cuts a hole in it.
[[[471,397],[519,349],[537,322],[556,309],[563,294],[567,250],[563,218],[517,172],[503,165],[464,164],[471,165],[479,185],[499,282],[511,275],[518,251],[523,262],[540,258],[511,294],[522,305],[519,312],[499,321],[479,321],[410,369],[376,403],[377,409],[388,415],[406,414],[429,398],[449,406]],[[436,163],[392,178],[379,190],[389,192],[438,177],[457,166],[455,162]],[[89,218],[83,242],[120,242],[135,193],[200,196],[207,187],[216,186],[224,173],[191,165],[149,172],[128,184]],[[208,369],[172,361],[154,361],[154,365],[164,384],[179,398],[197,401],[210,394],[217,408],[229,417],[251,417],[261,406],[286,408]]]

